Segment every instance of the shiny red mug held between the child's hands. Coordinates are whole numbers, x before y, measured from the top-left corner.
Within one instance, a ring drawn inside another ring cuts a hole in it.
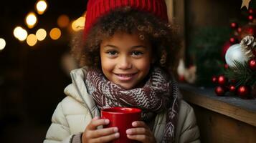
[[[118,127],[120,137],[111,143],[136,143],[137,141],[128,139],[126,130],[133,128],[134,121],[141,120],[141,109],[130,107],[111,107],[101,110],[101,117],[109,119],[110,123],[105,127]]]

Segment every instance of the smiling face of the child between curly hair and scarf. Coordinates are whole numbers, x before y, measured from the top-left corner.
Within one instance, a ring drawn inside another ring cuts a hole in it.
[[[138,34],[116,32],[100,44],[103,74],[125,89],[138,86],[147,76],[152,62],[151,44]]]

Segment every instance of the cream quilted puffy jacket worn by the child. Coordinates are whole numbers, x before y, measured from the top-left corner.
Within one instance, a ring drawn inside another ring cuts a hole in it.
[[[65,88],[67,97],[57,105],[52,115],[52,124],[47,131],[44,143],[70,142],[72,135],[83,132],[93,117],[100,116],[93,98],[87,93],[85,73],[85,69],[75,69],[71,72],[72,84]],[[163,138],[165,125],[166,112],[157,114],[153,126],[153,134],[157,142],[161,142]],[[200,142],[194,110],[184,100],[180,100],[179,104],[175,137],[176,142]]]

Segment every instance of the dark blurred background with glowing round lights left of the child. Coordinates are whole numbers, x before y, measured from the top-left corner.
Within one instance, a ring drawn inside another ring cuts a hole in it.
[[[76,67],[70,39],[84,24],[86,0],[2,1],[0,140],[42,142]],[[82,18],[80,18],[82,17]]]

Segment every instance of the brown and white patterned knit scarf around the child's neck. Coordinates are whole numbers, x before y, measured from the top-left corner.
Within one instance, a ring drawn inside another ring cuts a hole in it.
[[[105,78],[102,71],[89,69],[85,84],[98,108],[137,107],[142,109],[142,119],[150,120],[159,112],[167,111],[162,142],[174,142],[178,114],[179,90],[176,82],[160,68],[149,73],[143,87],[124,89]]]

